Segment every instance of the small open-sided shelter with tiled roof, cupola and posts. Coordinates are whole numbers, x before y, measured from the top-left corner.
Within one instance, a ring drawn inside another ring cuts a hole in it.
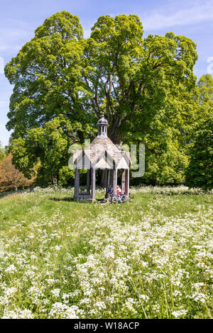
[[[98,135],[84,150],[76,150],[72,157],[75,168],[75,200],[95,200],[96,170],[104,170],[106,191],[111,184],[116,193],[118,170],[121,169],[121,191],[129,196],[129,152],[121,150],[107,136],[108,121],[102,115]],[[80,192],[80,169],[87,169],[87,192]]]

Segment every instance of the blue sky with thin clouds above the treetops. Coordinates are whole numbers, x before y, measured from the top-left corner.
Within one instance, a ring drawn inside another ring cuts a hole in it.
[[[141,18],[144,36],[173,31],[175,35],[194,40],[199,55],[195,65],[197,77],[207,73],[208,65],[213,62],[212,0],[1,0],[0,5],[0,141],[3,145],[9,140],[5,125],[13,89],[2,73],[3,62],[6,64],[15,57],[21,46],[33,38],[35,28],[58,11],[79,16],[85,37],[99,16],[133,13]]]

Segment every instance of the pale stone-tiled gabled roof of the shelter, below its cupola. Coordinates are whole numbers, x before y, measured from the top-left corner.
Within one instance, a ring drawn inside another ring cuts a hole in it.
[[[120,150],[114,145],[114,143],[109,139],[109,137],[97,136],[92,143],[84,149],[84,154],[87,156],[91,164],[97,162],[97,159],[102,155],[103,152],[107,152],[114,162],[118,165],[123,157],[130,162],[129,152]],[[77,158],[80,157],[82,150],[76,150],[73,154],[73,162],[75,163]]]

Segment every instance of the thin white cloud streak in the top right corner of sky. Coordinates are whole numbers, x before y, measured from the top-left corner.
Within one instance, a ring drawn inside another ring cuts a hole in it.
[[[178,4],[178,7],[180,4]],[[151,15],[141,16],[143,28],[147,30],[167,28],[172,26],[185,26],[189,24],[196,24],[202,21],[209,21],[213,19],[213,1],[198,1],[194,2],[192,6],[177,10],[176,8],[170,12],[153,11]]]

